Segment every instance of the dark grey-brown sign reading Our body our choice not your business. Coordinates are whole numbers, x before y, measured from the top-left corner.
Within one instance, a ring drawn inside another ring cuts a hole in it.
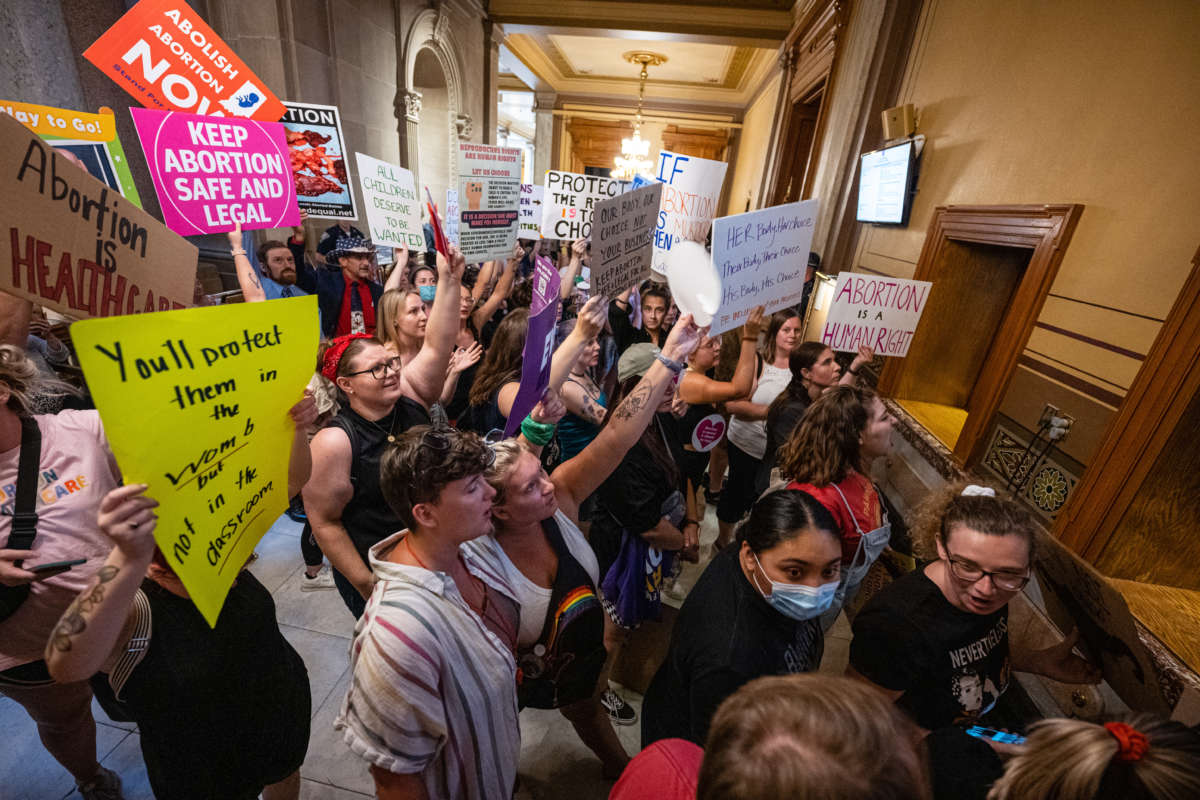
[[[650,233],[658,223],[662,184],[650,184],[596,203],[592,227],[592,290],[606,297],[650,276]]]

